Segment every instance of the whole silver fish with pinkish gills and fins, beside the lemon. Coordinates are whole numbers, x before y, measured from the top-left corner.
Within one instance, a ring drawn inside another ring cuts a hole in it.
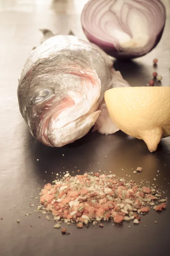
[[[105,52],[73,35],[56,35],[31,53],[17,96],[31,134],[45,145],[61,147],[94,124],[100,133],[119,130],[103,101],[105,91],[117,86],[129,85]]]

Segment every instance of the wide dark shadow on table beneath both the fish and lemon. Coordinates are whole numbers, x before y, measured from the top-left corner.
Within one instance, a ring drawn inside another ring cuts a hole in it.
[[[36,175],[48,182],[55,179],[56,173],[62,176],[66,171],[72,175],[82,175],[84,172],[99,172],[101,169],[102,172],[113,171],[124,177],[125,173],[133,175],[137,167],[143,168],[140,177],[153,179],[154,173],[164,168],[164,163],[170,166],[168,139],[161,141],[155,153],[150,153],[143,140],[129,137],[122,131],[111,135],[90,131],[82,139],[61,148],[42,145],[29,132],[27,136],[25,150],[31,166]]]

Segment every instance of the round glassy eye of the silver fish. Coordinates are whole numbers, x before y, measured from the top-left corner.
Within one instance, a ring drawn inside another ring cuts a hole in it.
[[[34,94],[34,96],[31,99],[31,102],[34,105],[40,104],[40,103],[44,102],[45,100],[49,99],[52,94],[53,94],[52,89],[51,90],[50,89],[39,90]]]

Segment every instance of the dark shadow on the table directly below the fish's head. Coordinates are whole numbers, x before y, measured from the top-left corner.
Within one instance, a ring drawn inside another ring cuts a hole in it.
[[[89,131],[83,138],[61,148],[52,148],[42,145],[28,132],[28,142],[25,143],[25,151],[32,162],[38,175],[47,172],[61,174],[65,171],[79,174],[85,171],[99,171],[98,163],[105,159],[105,155],[121,143],[127,137],[122,132],[112,135],[101,135],[98,132]],[[38,159],[38,160],[37,160]]]

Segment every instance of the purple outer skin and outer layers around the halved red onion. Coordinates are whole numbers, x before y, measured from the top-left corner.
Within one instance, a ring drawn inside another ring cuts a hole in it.
[[[141,49],[139,50],[135,50],[133,47],[130,47],[128,49],[123,49],[120,45],[119,45],[119,41],[116,38],[113,38],[113,41],[111,42],[111,40],[106,41],[105,40],[105,31],[103,32],[102,35],[102,30],[99,27],[96,27],[96,21],[95,21],[95,12],[94,15],[92,13],[92,15],[88,15],[89,10],[91,9],[91,6],[96,2],[97,2],[97,7],[99,7],[99,5],[101,3],[105,2],[113,2],[113,8],[114,8],[114,3],[119,2],[119,0],[110,0],[110,1],[106,1],[106,0],[90,0],[88,1],[88,3],[86,3],[86,5],[84,6],[84,9],[82,10],[82,15],[81,15],[81,23],[82,23],[82,29],[83,32],[85,33],[85,36],[88,38],[88,40],[91,43],[96,44],[97,46],[99,46],[101,49],[103,49],[108,55],[111,55],[112,57],[115,58],[122,58],[122,59],[131,59],[131,58],[138,58],[138,57],[142,57],[144,55],[146,55],[148,52],[150,52],[152,49],[154,49],[157,44],[159,43],[162,33],[164,31],[164,26],[165,26],[165,21],[166,21],[166,10],[164,7],[164,4],[160,1],[160,0],[149,0],[149,3],[152,4],[154,7],[157,8],[157,11],[160,12],[160,22],[159,22],[159,17],[157,17],[160,29],[157,32],[157,35],[154,35],[154,31],[152,31],[152,35],[151,37],[149,37],[148,39],[148,45],[146,46],[146,49],[143,47],[141,47]],[[148,4],[148,0],[132,0],[133,2],[137,2],[138,4],[141,4],[142,6],[144,5],[144,3]],[[146,6],[145,6],[146,8]],[[95,10],[96,11],[96,10]],[[110,11],[108,9],[108,11]],[[153,12],[153,10],[149,9],[150,12]],[[103,15],[103,13],[102,13]],[[114,14],[113,14],[114,15]],[[148,14],[147,14],[148,15]],[[152,14],[150,14],[152,15]],[[95,28],[93,31],[93,28],[88,27],[88,24],[86,24],[86,20],[90,19],[92,20],[92,27],[95,24]],[[100,17],[98,17],[100,18]],[[99,24],[98,24],[99,25]],[[155,24],[154,24],[155,25]],[[149,25],[148,25],[149,26]],[[156,28],[157,24],[155,25]],[[97,30],[99,28],[99,30]],[[156,28],[157,29],[157,28]],[[92,31],[94,33],[92,33]],[[149,35],[149,34],[148,34]],[[110,36],[110,35],[109,35]]]

